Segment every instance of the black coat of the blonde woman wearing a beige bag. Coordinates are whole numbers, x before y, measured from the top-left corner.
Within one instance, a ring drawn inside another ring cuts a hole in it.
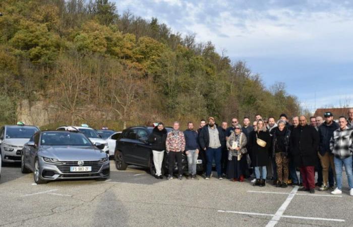
[[[256,134],[259,139],[262,139],[266,142],[265,147],[261,147],[256,143]],[[252,131],[250,133],[250,155],[253,166],[266,166],[269,160],[269,148],[271,146],[271,137],[268,131]]]

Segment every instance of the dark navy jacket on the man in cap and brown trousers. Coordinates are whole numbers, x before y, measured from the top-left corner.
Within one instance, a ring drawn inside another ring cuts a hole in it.
[[[330,139],[333,135],[333,132],[339,128],[339,125],[336,122],[332,122],[331,125],[327,125],[326,122],[322,123],[319,127],[319,152],[323,156],[326,152],[332,153],[330,150]]]

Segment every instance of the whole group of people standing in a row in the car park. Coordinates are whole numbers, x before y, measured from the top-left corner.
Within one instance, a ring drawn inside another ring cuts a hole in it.
[[[276,122],[256,115],[253,124],[250,118],[243,119],[243,126],[237,118],[231,119],[231,126],[209,117],[208,124],[200,121],[198,130],[188,122],[188,129],[180,131],[180,123],[174,122],[173,130],[167,133],[163,123],[152,131],[152,144],[156,178],[163,179],[161,168],[164,151],[169,154],[169,163],[178,163],[178,179],[182,180],[182,154],[188,159],[187,179],[198,180],[196,170],[198,159],[202,160],[204,177],[210,179],[212,164],[215,163],[217,177],[236,182],[255,174],[253,186],[266,184],[267,172],[272,172],[273,184],[285,188],[290,185],[302,186],[299,191],[315,193],[334,189],[332,194],[342,193],[342,166],[348,178],[349,194],[353,196],[353,108],[348,118],[341,116],[338,123],[332,112],[310,117],[295,116],[289,123],[282,113]],[[200,158],[199,158],[200,156]],[[173,164],[169,164],[168,180],[173,179]],[[297,176],[300,170],[300,178]],[[315,171],[318,173],[315,184]],[[254,172],[254,173],[252,173]]]

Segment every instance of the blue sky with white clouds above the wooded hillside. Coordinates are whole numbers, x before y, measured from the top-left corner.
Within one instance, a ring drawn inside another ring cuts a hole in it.
[[[353,106],[353,0],[112,0],[284,82],[303,108]]]

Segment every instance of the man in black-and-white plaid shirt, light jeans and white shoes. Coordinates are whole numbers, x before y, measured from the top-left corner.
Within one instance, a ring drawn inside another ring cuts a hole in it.
[[[330,150],[334,155],[334,163],[337,177],[337,188],[332,194],[342,194],[342,166],[348,178],[349,195],[353,196],[353,170],[352,170],[352,152],[353,152],[353,129],[347,127],[345,117],[339,117],[339,129],[333,132],[330,140]]]

